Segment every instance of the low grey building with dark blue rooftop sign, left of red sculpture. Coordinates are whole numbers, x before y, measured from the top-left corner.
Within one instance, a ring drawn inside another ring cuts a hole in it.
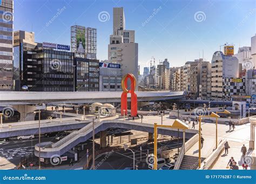
[[[121,66],[116,63],[99,63],[99,91],[123,91]]]

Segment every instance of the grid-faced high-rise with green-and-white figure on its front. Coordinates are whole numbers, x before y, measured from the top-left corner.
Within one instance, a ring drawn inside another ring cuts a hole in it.
[[[97,30],[79,25],[71,26],[71,52],[79,58],[97,59]]]

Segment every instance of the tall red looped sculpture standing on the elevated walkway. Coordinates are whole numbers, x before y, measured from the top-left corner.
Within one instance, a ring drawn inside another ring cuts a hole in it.
[[[127,80],[130,79],[131,81],[131,89],[127,89]],[[121,114],[127,115],[127,94],[131,94],[131,116],[136,117],[137,116],[137,95],[134,92],[136,88],[136,78],[133,74],[126,74],[123,76],[122,79],[122,89],[123,93],[121,96]]]

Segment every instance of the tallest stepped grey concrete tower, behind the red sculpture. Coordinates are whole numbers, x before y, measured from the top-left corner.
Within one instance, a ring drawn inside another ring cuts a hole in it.
[[[121,66],[122,75],[132,73],[138,81],[138,44],[134,31],[125,30],[123,8],[113,8],[113,35],[110,36],[108,58]]]

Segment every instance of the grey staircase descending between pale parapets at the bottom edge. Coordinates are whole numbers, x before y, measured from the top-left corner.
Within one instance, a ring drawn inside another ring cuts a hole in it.
[[[201,162],[204,161],[205,158],[201,158]],[[189,170],[189,169],[197,169],[198,168],[198,157],[184,155],[180,168],[181,170]]]

